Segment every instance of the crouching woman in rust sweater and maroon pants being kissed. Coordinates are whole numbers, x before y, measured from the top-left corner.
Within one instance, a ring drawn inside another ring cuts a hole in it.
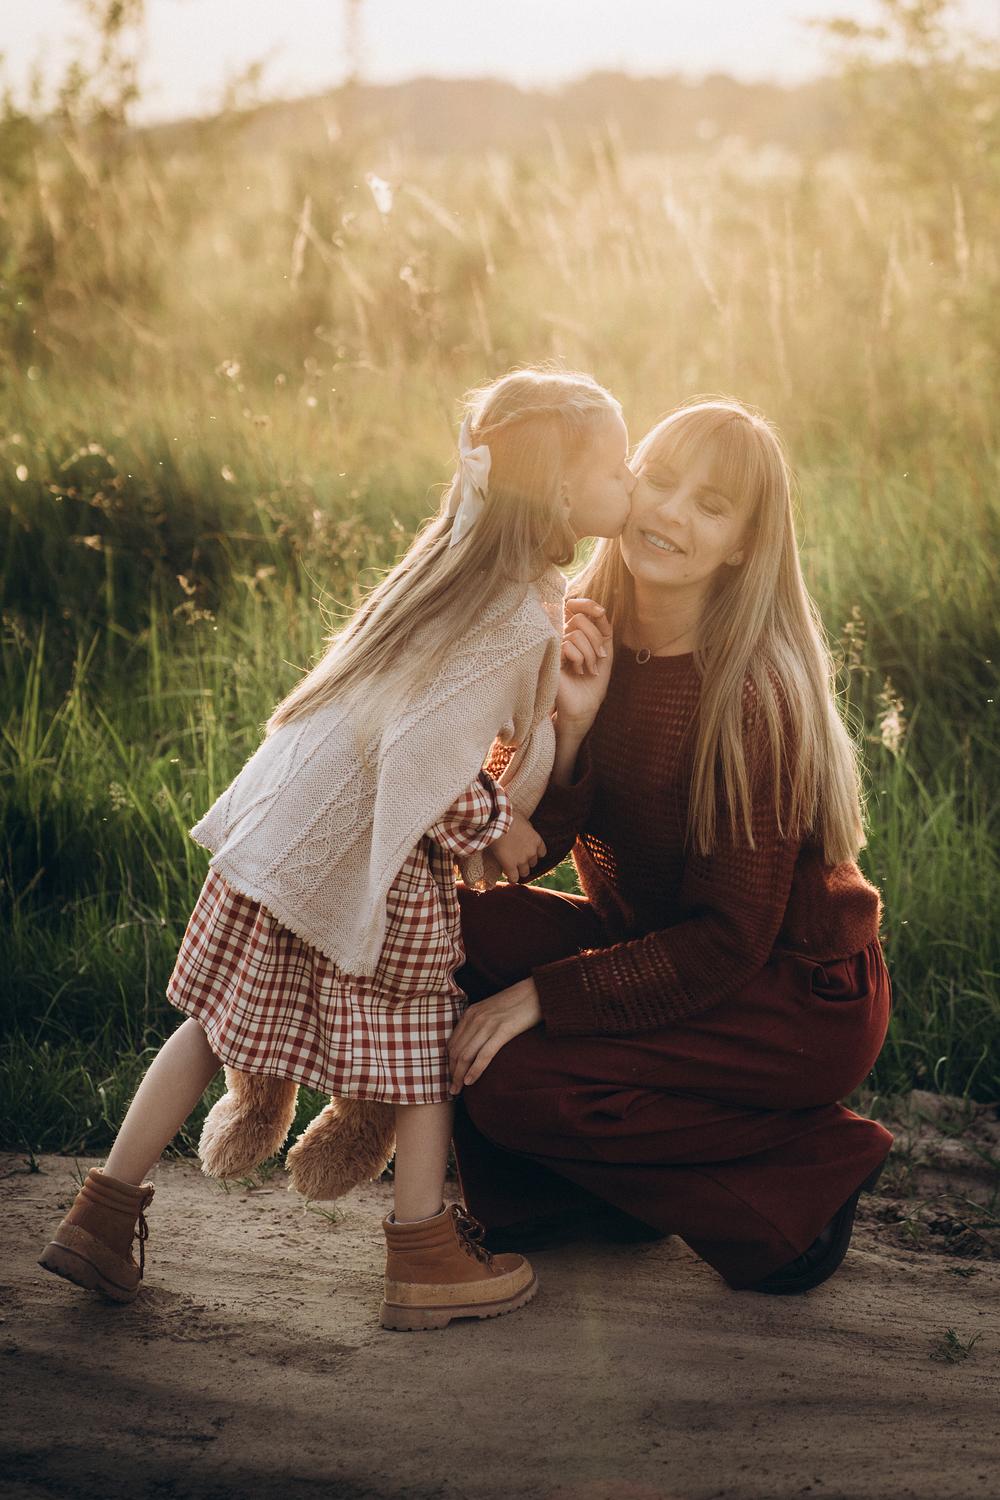
[[[771,424],[682,406],[633,466],[568,606],[534,816],[585,896],[462,894],[463,1188],[490,1246],[598,1198],[732,1287],[805,1292],[892,1144],[838,1102],[891,1008],[855,747]]]

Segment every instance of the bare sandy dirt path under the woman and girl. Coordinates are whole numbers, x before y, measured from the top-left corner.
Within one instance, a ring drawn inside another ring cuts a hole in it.
[[[676,1239],[579,1244],[532,1257],[529,1308],[421,1335],[375,1322],[385,1185],[334,1222],[280,1173],[163,1162],[114,1308],[34,1263],[90,1162],[0,1158],[0,1494],[993,1500],[1000,1108],[912,1095],[895,1128],[805,1298],[733,1293]]]

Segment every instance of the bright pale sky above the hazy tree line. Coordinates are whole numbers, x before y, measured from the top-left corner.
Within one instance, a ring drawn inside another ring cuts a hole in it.
[[[1000,0],[955,15],[1000,39]],[[874,0],[364,0],[363,76],[510,78],[556,84],[595,69],[795,82],[825,70],[816,15],[871,20]],[[208,112],[226,82],[265,62],[264,93],[316,93],[345,75],[343,0],[147,0],[144,118]],[[0,0],[0,54],[18,96],[39,64],[52,82],[85,33],[73,0]]]

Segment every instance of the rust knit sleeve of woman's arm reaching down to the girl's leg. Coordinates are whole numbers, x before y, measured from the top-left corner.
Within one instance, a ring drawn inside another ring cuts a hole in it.
[[[801,848],[778,832],[768,776],[754,788],[753,832],[751,849],[720,808],[714,852],[687,856],[681,921],[535,969],[549,1034],[657,1030],[736,994],[771,956]]]

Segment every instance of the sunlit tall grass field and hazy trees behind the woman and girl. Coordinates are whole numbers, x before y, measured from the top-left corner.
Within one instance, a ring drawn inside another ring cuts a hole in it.
[[[106,21],[55,114],[6,100],[3,1143],[108,1143],[174,1024],[187,826],[436,507],[462,392],[540,358],[633,436],[705,392],[786,434],[885,897],[870,1089],[1000,1096],[999,75],[945,6],[882,10],[900,62],[841,27],[804,90],[237,92],[139,132]]]

